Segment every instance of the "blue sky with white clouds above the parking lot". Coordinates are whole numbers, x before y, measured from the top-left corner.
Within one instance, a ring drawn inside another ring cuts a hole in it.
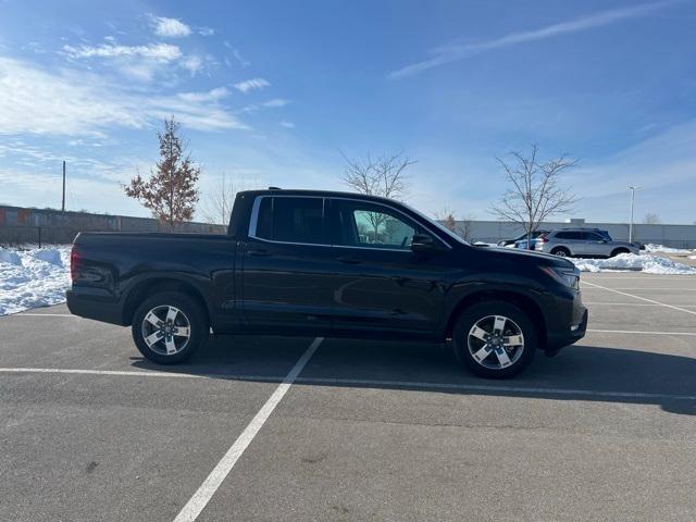
[[[0,0],[0,202],[147,215],[120,188],[183,122],[202,204],[238,187],[340,189],[403,151],[408,201],[490,219],[497,156],[580,160],[570,215],[696,221],[696,4],[625,1]]]

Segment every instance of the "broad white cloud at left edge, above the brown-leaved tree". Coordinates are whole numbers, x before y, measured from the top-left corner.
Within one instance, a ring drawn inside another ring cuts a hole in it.
[[[169,96],[126,88],[84,71],[53,73],[0,58],[0,134],[102,136],[146,128],[170,114],[200,130],[248,128],[220,104],[224,88]]]

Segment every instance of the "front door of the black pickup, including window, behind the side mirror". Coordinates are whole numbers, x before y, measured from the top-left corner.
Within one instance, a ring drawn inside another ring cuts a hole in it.
[[[334,244],[334,332],[339,335],[430,336],[448,269],[442,253],[411,251],[414,234],[430,234],[397,209],[331,198]],[[443,246],[448,249],[447,245]]]

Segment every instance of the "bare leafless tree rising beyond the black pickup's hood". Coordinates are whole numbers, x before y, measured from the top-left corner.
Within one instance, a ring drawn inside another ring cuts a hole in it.
[[[524,227],[527,245],[532,244],[532,233],[548,216],[568,212],[577,198],[559,185],[563,172],[577,164],[567,154],[539,162],[538,147],[532,146],[529,156],[511,152],[511,162],[497,158],[505,170],[506,179],[511,185],[492,211],[502,220],[519,223]]]

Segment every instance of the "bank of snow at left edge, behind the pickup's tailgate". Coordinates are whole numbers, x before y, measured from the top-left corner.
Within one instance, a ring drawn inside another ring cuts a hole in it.
[[[0,247],[0,315],[63,302],[70,286],[70,248]]]

